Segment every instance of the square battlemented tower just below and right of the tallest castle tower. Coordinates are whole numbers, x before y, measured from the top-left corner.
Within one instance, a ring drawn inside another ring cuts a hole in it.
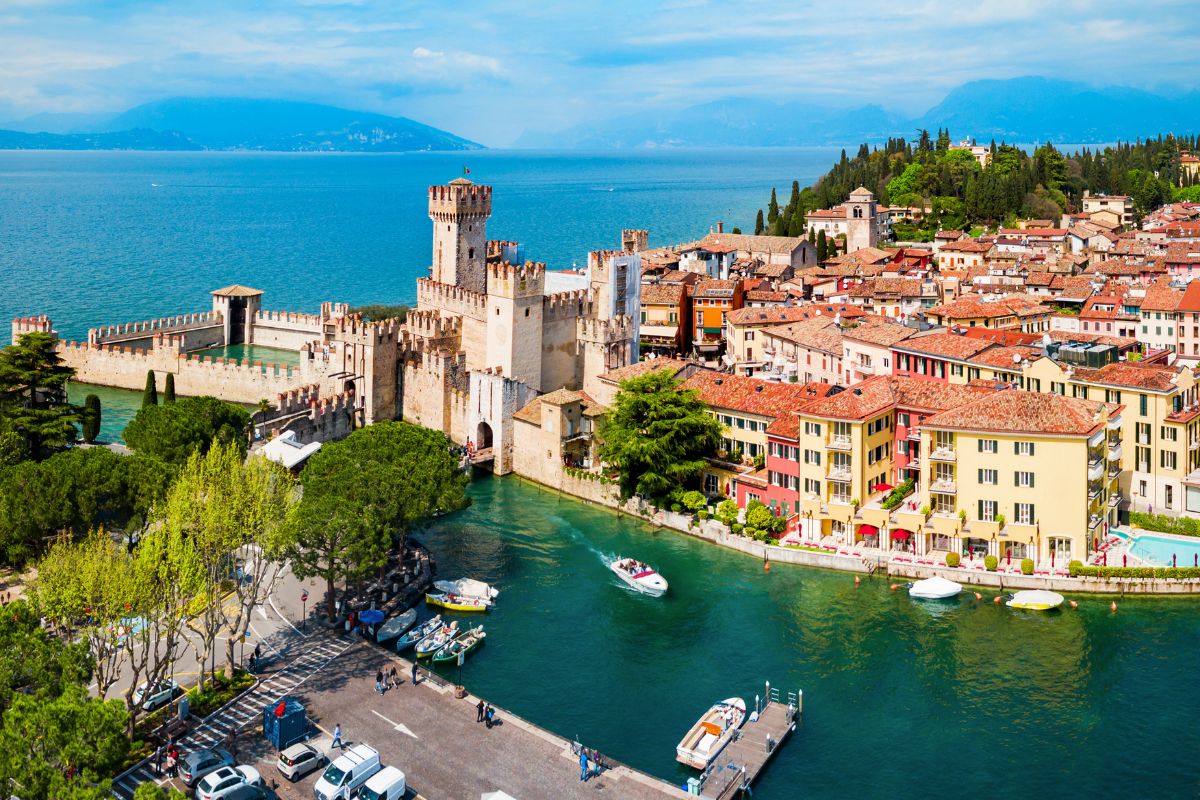
[[[487,265],[487,368],[541,386],[542,301],[546,267]],[[557,386],[554,386],[557,389]]]

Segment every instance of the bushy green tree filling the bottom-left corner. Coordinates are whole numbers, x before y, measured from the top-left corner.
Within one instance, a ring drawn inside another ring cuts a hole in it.
[[[18,696],[0,726],[0,786],[23,800],[101,800],[130,751],[128,712],[71,685],[53,699]]]

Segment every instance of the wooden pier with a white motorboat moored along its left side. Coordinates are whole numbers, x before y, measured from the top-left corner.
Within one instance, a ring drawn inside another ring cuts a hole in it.
[[[803,692],[788,692],[781,698],[779,690],[768,684],[766,698],[758,715],[742,726],[737,738],[704,771],[700,788],[702,798],[730,800],[749,789],[796,729]]]

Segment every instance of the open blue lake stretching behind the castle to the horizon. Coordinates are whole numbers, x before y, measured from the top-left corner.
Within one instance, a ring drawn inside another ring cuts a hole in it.
[[[752,228],[772,186],[820,175],[834,148],[406,155],[0,152],[0,319],[89,326],[211,308],[229,283],[264,307],[410,302],[430,264],[426,191],[470,168],[496,187],[492,239],[552,269],[724,219]]]

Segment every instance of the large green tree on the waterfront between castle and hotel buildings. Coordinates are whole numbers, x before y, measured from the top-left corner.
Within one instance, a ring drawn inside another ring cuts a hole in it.
[[[679,391],[659,369],[620,384],[600,428],[600,457],[620,470],[623,498],[659,499],[700,475],[721,432],[696,392]]]

